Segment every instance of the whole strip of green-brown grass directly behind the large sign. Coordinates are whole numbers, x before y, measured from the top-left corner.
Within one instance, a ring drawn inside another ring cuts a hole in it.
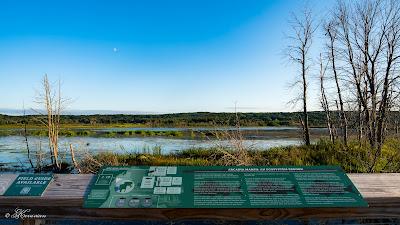
[[[232,151],[224,149],[226,151]],[[325,139],[310,146],[275,147],[269,150],[249,151],[252,165],[296,165],[318,166],[338,165],[346,172],[368,172],[368,148],[351,141],[347,148],[341,143],[335,144]],[[178,153],[162,155],[160,151],[142,151],[140,153],[100,153],[94,159],[103,165],[222,165],[223,152],[218,148],[194,148]],[[391,162],[391,163],[388,163]],[[87,165],[87,162],[83,163]],[[377,162],[376,172],[400,172],[400,140],[392,138],[386,141],[382,156]]]

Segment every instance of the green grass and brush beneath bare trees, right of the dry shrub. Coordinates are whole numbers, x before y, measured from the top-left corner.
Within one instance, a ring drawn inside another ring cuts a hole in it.
[[[346,172],[368,172],[371,157],[366,145],[350,141],[348,147],[325,139],[310,146],[289,146],[256,152],[256,165],[338,165]],[[391,163],[388,163],[388,162]],[[385,143],[376,172],[400,172],[400,140],[389,139]]]

